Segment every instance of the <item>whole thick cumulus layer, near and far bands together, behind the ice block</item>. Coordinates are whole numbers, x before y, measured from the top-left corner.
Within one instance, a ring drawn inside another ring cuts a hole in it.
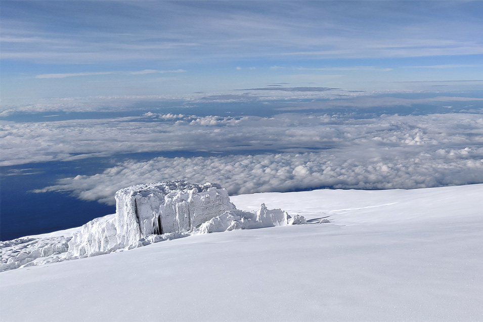
[[[95,175],[63,178],[37,191],[67,191],[104,203],[113,203],[117,189],[170,179],[215,181],[231,194],[483,182],[483,117],[478,114],[354,118],[352,114],[146,113],[5,127],[9,135],[2,139],[4,165],[136,152],[223,153],[129,160]]]

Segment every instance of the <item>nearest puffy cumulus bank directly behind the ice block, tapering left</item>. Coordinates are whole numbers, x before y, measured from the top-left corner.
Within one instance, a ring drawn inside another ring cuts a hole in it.
[[[412,189],[483,182],[483,148],[336,150],[317,153],[230,155],[134,160],[91,176],[60,179],[36,192],[70,192],[82,200],[114,204],[118,189],[142,182],[212,181],[231,195],[315,188]]]

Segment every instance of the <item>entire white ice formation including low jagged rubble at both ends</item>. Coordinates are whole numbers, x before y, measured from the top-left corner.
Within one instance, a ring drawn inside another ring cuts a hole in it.
[[[116,213],[84,224],[72,236],[21,238],[0,243],[0,271],[130,249],[198,233],[305,223],[262,204],[236,209],[216,183],[183,180],[136,185],[116,193]]]

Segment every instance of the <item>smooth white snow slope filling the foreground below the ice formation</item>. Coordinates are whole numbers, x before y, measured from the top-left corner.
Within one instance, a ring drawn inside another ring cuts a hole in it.
[[[482,196],[470,185],[231,197],[308,223],[4,271],[0,319],[483,320]]]

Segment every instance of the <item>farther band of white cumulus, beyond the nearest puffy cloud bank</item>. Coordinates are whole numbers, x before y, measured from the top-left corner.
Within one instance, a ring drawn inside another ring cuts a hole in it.
[[[462,113],[364,119],[345,114],[148,113],[115,119],[3,122],[0,139],[2,166],[169,151],[356,151],[362,147],[362,151],[373,148],[383,153],[397,147],[478,146],[483,142],[483,118]]]

